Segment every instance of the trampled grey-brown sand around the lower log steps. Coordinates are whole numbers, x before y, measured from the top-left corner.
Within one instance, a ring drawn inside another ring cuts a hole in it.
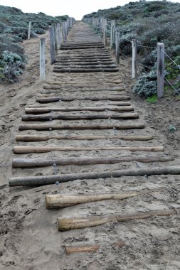
[[[46,34],[46,36],[48,36]],[[75,180],[60,185],[46,185],[38,188],[9,188],[8,179],[21,175],[53,175],[53,166],[45,168],[12,168],[12,158],[19,156],[12,152],[13,146],[164,146],[166,156],[173,156],[174,161],[160,163],[117,163],[113,165],[93,166],[58,166],[58,174],[79,173],[90,171],[119,170],[122,168],[147,168],[163,165],[179,165],[179,104],[173,95],[167,94],[157,104],[147,104],[142,99],[132,95],[134,82],[130,78],[131,63],[125,58],[120,59],[120,72],[115,72],[108,80],[122,80],[120,88],[125,91],[120,95],[131,95],[135,112],[139,113],[137,122],[144,122],[143,130],[129,131],[39,131],[38,134],[126,134],[152,135],[153,141],[121,141],[116,139],[96,141],[43,141],[39,143],[17,143],[17,134],[36,134],[36,131],[18,131],[22,124],[21,115],[24,107],[39,106],[35,102],[37,96],[43,95],[43,84],[38,79],[38,44],[39,39],[24,41],[26,54],[29,55],[24,80],[14,85],[1,85],[1,181],[0,181],[0,269],[63,269],[63,270],[95,270],[95,269],[180,269],[179,261],[179,175],[158,175],[138,177],[106,178],[97,180]],[[107,80],[105,72],[93,74],[55,74],[49,58],[47,43],[46,80],[92,80],[102,85]],[[116,93],[117,94],[117,93]],[[54,94],[53,94],[54,95]],[[62,97],[101,96],[101,93],[80,92],[64,89],[58,93]],[[105,92],[104,95],[113,95]],[[60,106],[93,106],[94,102],[61,102]],[[51,104],[58,106],[59,104]],[[49,104],[47,106],[50,106]],[[117,124],[115,119],[95,120],[93,123]],[[68,121],[70,123],[90,123],[92,121]],[[132,122],[128,120],[127,122]],[[30,122],[31,123],[31,122]],[[33,122],[32,122],[33,123]],[[63,121],[53,121],[63,123]],[[28,123],[29,124],[29,123]],[[38,122],[37,122],[38,124]],[[173,124],[178,129],[171,133],[167,126]],[[158,155],[159,153],[152,153]],[[129,151],[70,151],[43,154],[21,155],[26,158],[68,158],[68,157],[118,157],[142,156],[140,152]],[[151,153],[143,153],[144,156]],[[165,188],[163,192],[154,192],[122,201],[104,200],[89,202],[82,205],[66,207],[61,210],[46,210],[45,195],[55,193],[93,194],[142,190],[144,188]],[[129,222],[110,222],[97,227],[73,229],[68,232],[58,232],[57,217],[73,217],[87,215],[123,215],[138,211],[164,210],[175,208],[178,215],[171,217],[152,217],[148,220],[132,220]],[[118,247],[116,242],[125,242],[124,247]],[[100,249],[94,253],[75,253],[66,255],[65,246],[78,244],[100,244]]]

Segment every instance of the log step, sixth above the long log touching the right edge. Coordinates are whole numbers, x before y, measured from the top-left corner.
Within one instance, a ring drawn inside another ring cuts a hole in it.
[[[132,106],[120,107],[43,107],[43,108],[25,108],[26,114],[47,114],[48,112],[72,112],[72,111],[115,111],[115,112],[131,112],[134,111]]]

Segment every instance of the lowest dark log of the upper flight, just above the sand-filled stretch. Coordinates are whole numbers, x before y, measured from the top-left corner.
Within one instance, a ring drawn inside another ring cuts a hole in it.
[[[53,72],[117,72],[119,71],[119,68],[87,68],[87,69],[82,69],[82,68],[54,68]]]

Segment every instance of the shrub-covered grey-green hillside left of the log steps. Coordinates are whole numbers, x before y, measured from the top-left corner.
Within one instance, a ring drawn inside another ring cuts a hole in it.
[[[34,38],[45,33],[48,26],[67,18],[67,15],[53,17],[42,12],[23,13],[21,9],[0,6],[0,81],[16,82],[23,73],[26,55],[20,43],[28,38],[29,21],[32,21],[31,38]]]

